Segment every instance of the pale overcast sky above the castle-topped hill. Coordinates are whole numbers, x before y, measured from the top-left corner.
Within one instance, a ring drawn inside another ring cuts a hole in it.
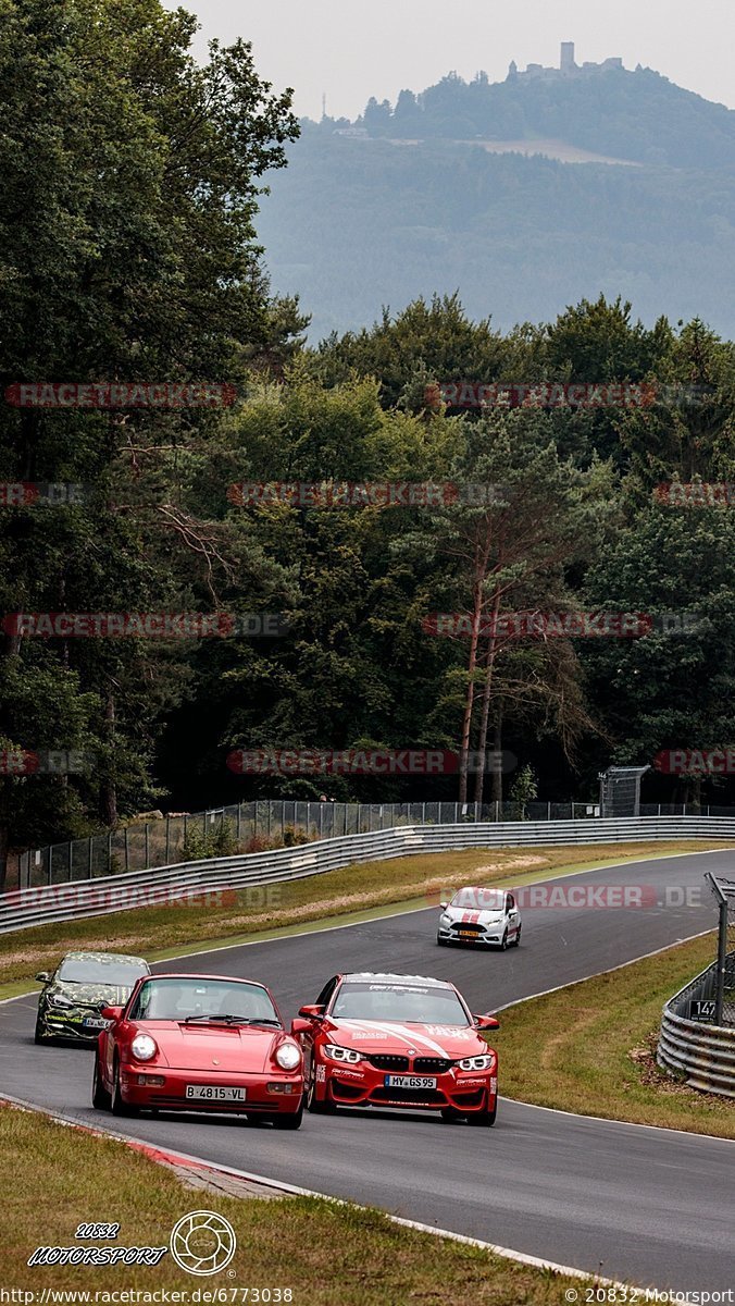
[[[174,0],[168,0],[174,7]],[[510,59],[559,64],[620,55],[735,108],[734,0],[179,0],[201,42],[244,37],[261,77],[292,86],[299,116],[356,118],[369,98],[396,102],[450,71],[505,77]],[[200,44],[200,50],[204,47]]]

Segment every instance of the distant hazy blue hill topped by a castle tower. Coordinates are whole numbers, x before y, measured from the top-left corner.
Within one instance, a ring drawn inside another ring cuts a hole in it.
[[[350,125],[368,135],[338,135]],[[477,137],[552,137],[638,166],[492,154]],[[503,328],[604,291],[648,321],[700,315],[735,336],[735,112],[655,73],[448,77],[394,110],[371,102],[358,124],[304,123],[289,157],[258,234],[312,338],[457,289]]]

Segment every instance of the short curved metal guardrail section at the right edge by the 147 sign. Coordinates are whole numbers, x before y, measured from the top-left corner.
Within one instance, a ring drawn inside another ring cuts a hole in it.
[[[728,956],[735,966],[735,953]],[[735,1029],[689,1020],[691,1000],[712,1000],[717,989],[718,963],[666,1003],[661,1021],[657,1060],[663,1070],[684,1074],[691,1088],[735,1097]]]

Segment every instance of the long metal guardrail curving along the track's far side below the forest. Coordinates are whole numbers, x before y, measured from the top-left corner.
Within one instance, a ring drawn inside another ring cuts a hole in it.
[[[222,889],[320,875],[355,862],[467,848],[631,842],[658,838],[730,840],[735,819],[641,816],[577,821],[401,825],[346,838],[325,838],[266,853],[180,862],[144,871],[44,884],[0,895],[0,932],[73,921],[140,906],[196,900]]]

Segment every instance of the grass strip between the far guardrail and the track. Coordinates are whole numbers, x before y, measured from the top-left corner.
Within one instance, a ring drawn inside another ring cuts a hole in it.
[[[717,845],[728,846],[726,844]],[[33,985],[70,948],[142,953],[149,960],[183,956],[304,929],[328,929],[437,904],[443,888],[466,883],[524,884],[548,874],[590,870],[627,859],[702,852],[706,840],[651,840],[571,848],[473,848],[362,862],[324,875],[230,893],[222,905],[134,908],[85,921],[64,921],[0,938],[0,998]]]

